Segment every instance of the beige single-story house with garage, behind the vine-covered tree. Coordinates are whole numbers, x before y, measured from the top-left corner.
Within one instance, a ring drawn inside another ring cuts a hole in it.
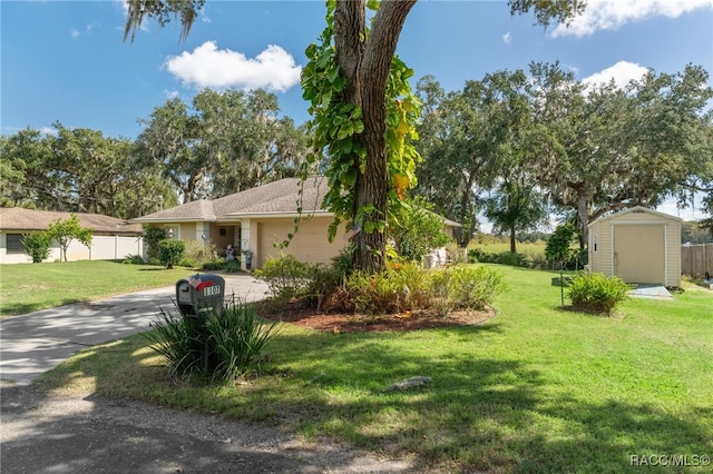
[[[302,195],[300,197],[300,191]],[[324,177],[312,177],[300,186],[300,178],[284,178],[216,199],[201,199],[131,219],[166,228],[173,238],[204,240],[224,249],[228,245],[243,254],[243,269],[261,268],[268,257],[280,255],[279,245],[294,231],[297,207],[302,207],[299,231],[285,253],[302,261],[329,264],[346,246],[346,229],[328,239],[333,214],[322,208],[329,190]],[[457,223],[445,219],[452,235]],[[251,266],[247,267],[246,253]]]

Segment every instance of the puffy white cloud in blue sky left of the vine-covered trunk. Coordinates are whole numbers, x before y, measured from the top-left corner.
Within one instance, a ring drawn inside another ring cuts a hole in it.
[[[184,51],[166,60],[168,70],[186,86],[196,88],[276,90],[284,92],[300,82],[302,67],[279,46],[270,45],[254,59],[229,49],[218,50],[206,41],[193,52]]]

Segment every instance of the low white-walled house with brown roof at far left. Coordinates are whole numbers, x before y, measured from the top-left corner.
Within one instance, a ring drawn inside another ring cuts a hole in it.
[[[60,213],[52,210],[0,208],[0,264],[27,264],[32,259],[22,247],[22,236],[47,230],[56,220],[67,220],[71,214],[81,227],[91,229],[89,247],[72,240],[67,248],[68,260],[115,260],[127,255],[143,255],[143,228],[116,217],[87,213]],[[52,243],[47,261],[60,258],[59,244]]]

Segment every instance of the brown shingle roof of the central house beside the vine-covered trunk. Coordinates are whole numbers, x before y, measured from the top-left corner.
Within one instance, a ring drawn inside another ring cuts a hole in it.
[[[237,219],[248,215],[296,214],[299,190],[300,178],[284,178],[222,198],[186,203],[131,221],[215,221]],[[309,178],[304,181],[302,211],[321,210],[322,200],[328,190],[326,179],[323,177]]]

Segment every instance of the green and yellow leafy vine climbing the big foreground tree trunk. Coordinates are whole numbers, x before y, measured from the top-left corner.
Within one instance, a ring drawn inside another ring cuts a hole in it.
[[[421,160],[411,144],[411,140],[418,139],[416,124],[421,106],[409,83],[413,70],[394,56],[390,62],[383,101],[387,166],[385,169],[375,171],[368,167],[369,160],[375,157],[370,157],[367,151],[364,117],[359,105],[362,85],[358,80],[355,83],[348,83],[350,79],[338,66],[334,46],[335,6],[335,0],[326,1],[326,28],[319,42],[307,47],[305,52],[309,62],[302,71],[303,98],[311,102],[309,111],[312,115],[309,124],[312,151],[303,168],[302,180],[304,182],[309,179],[307,170],[314,169],[315,166],[328,178],[329,190],[322,206],[334,214],[334,220],[329,227],[330,241],[334,239],[342,224],[368,235],[385,233],[388,223],[398,214],[399,207],[408,206],[403,199],[408,190],[417,184],[416,165]],[[368,8],[377,10],[379,2],[370,1]],[[365,43],[370,33],[365,26],[364,31],[360,40]],[[355,92],[358,100],[349,100],[348,88]],[[365,203],[362,196],[361,203],[358,203],[359,187],[363,186],[359,177],[372,172],[382,177],[368,176],[369,179],[385,177],[388,180],[385,215],[372,204],[379,201],[379,198],[383,203],[383,196],[367,196]],[[299,211],[301,213],[301,205]],[[299,219],[300,217],[295,219],[295,230]]]

